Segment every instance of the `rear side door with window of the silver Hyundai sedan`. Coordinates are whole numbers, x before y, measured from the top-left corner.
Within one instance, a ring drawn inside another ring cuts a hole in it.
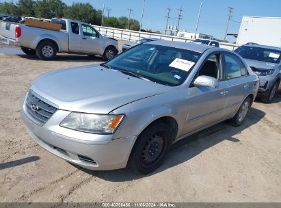
[[[226,114],[237,112],[241,103],[251,93],[254,82],[243,62],[233,53],[224,52],[224,80],[228,83]]]

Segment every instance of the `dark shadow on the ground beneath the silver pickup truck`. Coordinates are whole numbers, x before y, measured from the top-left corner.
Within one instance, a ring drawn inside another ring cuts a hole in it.
[[[17,56],[25,58],[27,60],[40,60],[36,55],[20,55]],[[58,54],[53,61],[62,62],[105,62],[101,56],[88,56],[88,55],[69,55]]]

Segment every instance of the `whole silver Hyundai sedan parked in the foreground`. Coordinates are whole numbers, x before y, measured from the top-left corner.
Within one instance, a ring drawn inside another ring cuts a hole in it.
[[[241,125],[258,86],[232,51],[161,40],[105,64],[41,75],[21,114],[31,138],[58,157],[145,174],[187,135],[224,120]]]

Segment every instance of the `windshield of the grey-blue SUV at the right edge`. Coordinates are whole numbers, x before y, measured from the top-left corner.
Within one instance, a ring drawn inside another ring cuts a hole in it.
[[[248,60],[269,62],[273,64],[278,64],[281,58],[281,51],[259,47],[239,47],[235,52]]]

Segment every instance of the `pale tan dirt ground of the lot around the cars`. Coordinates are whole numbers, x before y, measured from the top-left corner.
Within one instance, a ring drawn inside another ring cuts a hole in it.
[[[281,90],[272,104],[255,102],[243,126],[223,122],[176,144],[146,176],[84,170],[44,151],[23,127],[19,99],[42,73],[99,62],[0,53],[0,202],[281,202]]]

